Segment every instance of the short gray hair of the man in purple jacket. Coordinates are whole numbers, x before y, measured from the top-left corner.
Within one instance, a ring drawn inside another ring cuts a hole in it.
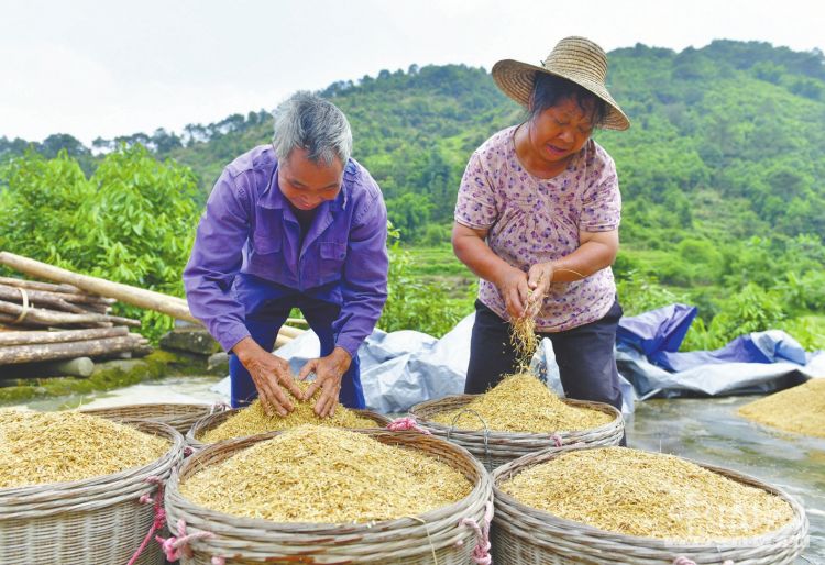
[[[341,110],[307,91],[284,100],[273,111],[275,133],[272,144],[284,162],[295,148],[307,149],[312,163],[331,165],[336,157],[345,167],[352,154],[352,130]]]

